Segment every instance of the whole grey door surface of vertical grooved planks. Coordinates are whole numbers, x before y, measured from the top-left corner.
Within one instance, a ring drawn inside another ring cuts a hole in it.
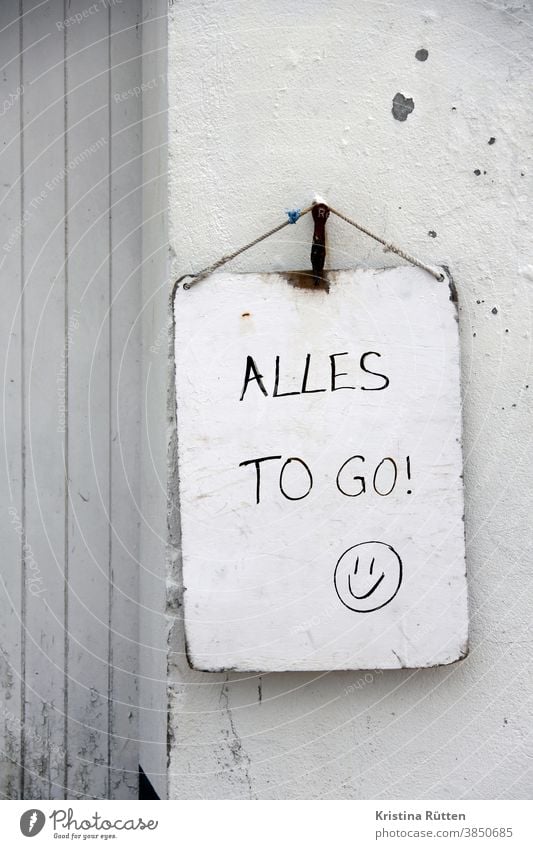
[[[137,785],[141,3],[86,8],[0,7],[9,798]]]

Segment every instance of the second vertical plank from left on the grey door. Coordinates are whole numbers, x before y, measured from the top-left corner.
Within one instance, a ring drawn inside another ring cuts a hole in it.
[[[52,799],[65,795],[64,10],[23,4],[24,794]]]

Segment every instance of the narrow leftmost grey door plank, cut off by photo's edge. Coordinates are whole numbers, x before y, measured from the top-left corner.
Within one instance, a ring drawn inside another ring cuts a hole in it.
[[[21,737],[24,694],[23,558],[24,400],[21,342],[21,266],[23,254],[16,228],[20,221],[21,185],[21,20],[19,0],[0,4],[0,114],[3,144],[0,158],[0,361],[2,364],[2,474],[0,515],[0,797],[16,799],[22,785]],[[6,568],[7,567],[7,568]]]

